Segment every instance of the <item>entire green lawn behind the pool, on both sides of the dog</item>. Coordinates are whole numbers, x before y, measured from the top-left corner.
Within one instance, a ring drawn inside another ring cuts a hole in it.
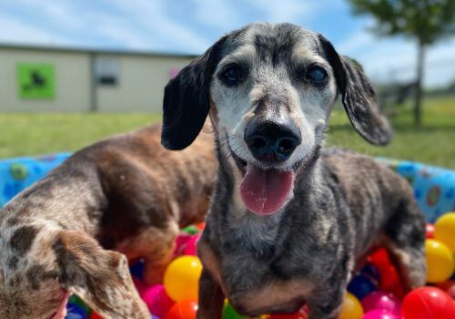
[[[387,147],[369,145],[351,128],[344,111],[336,109],[327,144],[455,170],[455,97],[427,99],[424,107],[420,129],[412,125],[409,107],[397,108],[391,118],[395,137]],[[1,114],[0,158],[76,150],[159,119],[150,114]]]

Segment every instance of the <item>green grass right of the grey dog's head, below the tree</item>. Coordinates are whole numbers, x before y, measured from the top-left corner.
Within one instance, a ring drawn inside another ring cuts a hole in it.
[[[455,97],[426,100],[423,123],[419,129],[413,125],[410,106],[397,108],[396,112],[390,118],[395,133],[392,142],[385,147],[375,147],[353,133],[344,111],[337,109],[330,120],[328,145],[455,170]]]

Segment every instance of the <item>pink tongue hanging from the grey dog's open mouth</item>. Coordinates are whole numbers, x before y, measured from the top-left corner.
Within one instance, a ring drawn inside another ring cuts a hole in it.
[[[282,170],[261,170],[248,165],[240,184],[240,196],[249,211],[269,215],[278,211],[292,190],[294,173]]]

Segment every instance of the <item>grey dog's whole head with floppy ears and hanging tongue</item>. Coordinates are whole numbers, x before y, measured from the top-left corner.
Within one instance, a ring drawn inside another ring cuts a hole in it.
[[[270,214],[292,197],[297,171],[317,157],[339,92],[359,133],[387,143],[389,126],[369,80],[328,40],[288,24],[249,25],[171,80],[162,141],[185,148],[210,112],[223,158],[242,176],[243,203]]]

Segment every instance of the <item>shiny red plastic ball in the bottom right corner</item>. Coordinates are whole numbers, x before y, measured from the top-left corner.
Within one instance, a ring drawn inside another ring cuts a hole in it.
[[[439,288],[421,287],[408,293],[401,305],[403,319],[453,319],[455,306]]]

